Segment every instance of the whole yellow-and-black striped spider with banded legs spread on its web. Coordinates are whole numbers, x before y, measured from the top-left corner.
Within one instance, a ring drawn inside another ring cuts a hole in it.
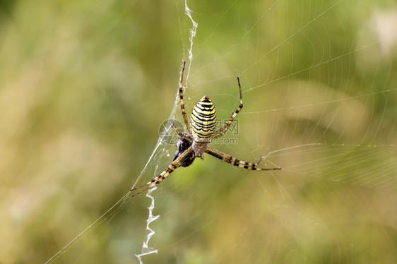
[[[190,164],[194,162],[196,157],[200,157],[203,159],[204,152],[209,155],[218,158],[224,162],[230,163],[234,166],[256,170],[256,171],[269,171],[274,169],[281,168],[258,168],[256,167],[259,162],[261,162],[262,157],[256,163],[244,162],[242,160],[237,160],[235,157],[227,155],[219,150],[215,150],[208,146],[208,143],[211,143],[212,140],[220,138],[223,136],[227,129],[232,124],[232,121],[235,119],[237,114],[239,114],[242,109],[242,90],[240,85],[240,80],[237,77],[237,82],[239,84],[239,95],[240,95],[240,104],[237,107],[237,110],[230,116],[229,121],[227,121],[222,127],[220,127],[217,131],[215,131],[215,123],[216,123],[216,113],[215,107],[213,106],[213,102],[207,97],[203,96],[198,102],[194,105],[191,115],[190,115],[190,124],[187,120],[186,111],[184,108],[184,94],[182,90],[182,82],[184,77],[184,68],[186,65],[186,61],[184,61],[184,65],[182,67],[181,79],[179,81],[179,98],[181,102],[181,112],[182,117],[184,119],[184,124],[186,125],[189,133],[179,132],[177,128],[175,128],[174,124],[172,124],[172,128],[179,135],[179,140],[177,142],[177,151],[174,155],[174,160],[170,164],[170,166],[165,169],[158,176],[155,176],[151,181],[137,188],[132,188],[130,191],[138,191],[134,193],[134,196],[139,193],[143,193],[150,188],[153,188],[157,184],[160,184],[168,175],[174,172],[178,167],[188,167]],[[146,188],[145,188],[146,187]]]

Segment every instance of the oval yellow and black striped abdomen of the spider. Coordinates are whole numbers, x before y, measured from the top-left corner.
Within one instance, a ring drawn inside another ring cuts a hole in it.
[[[190,115],[191,133],[196,142],[206,142],[211,138],[216,123],[216,113],[213,102],[207,96],[203,96],[193,107]]]

